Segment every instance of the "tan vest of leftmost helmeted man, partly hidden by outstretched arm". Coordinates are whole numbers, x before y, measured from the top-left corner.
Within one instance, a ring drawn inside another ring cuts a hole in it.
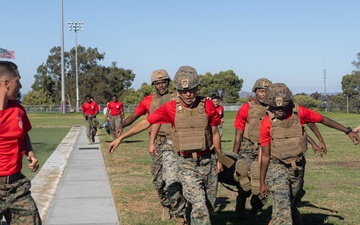
[[[169,92],[161,96],[161,98],[157,97],[157,93],[152,93],[152,101],[150,104],[150,114],[152,114],[157,108],[162,106],[164,103],[169,102],[170,100],[175,99],[176,94],[174,92]],[[157,140],[160,140],[159,137],[161,136],[167,136],[167,138],[170,138],[171,133],[171,124],[161,124],[159,132],[157,134]],[[149,128],[149,132],[151,131],[151,127]]]

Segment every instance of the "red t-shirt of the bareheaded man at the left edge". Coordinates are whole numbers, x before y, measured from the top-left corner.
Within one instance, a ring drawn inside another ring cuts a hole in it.
[[[31,124],[25,109],[15,101],[9,101],[0,110],[0,176],[9,176],[22,169],[25,154],[25,134]]]

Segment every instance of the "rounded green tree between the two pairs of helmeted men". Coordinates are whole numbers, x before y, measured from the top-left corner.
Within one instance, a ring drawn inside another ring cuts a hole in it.
[[[202,96],[211,96],[212,94],[221,95],[224,103],[236,103],[239,98],[239,92],[242,88],[243,79],[232,70],[220,71],[211,75],[206,73],[200,75],[202,85],[199,87],[199,94]]]

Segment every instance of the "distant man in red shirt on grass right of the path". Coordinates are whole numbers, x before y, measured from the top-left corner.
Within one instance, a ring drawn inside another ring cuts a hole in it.
[[[105,122],[109,121],[110,135],[116,139],[116,130],[120,127],[124,117],[124,106],[118,101],[117,95],[113,95],[112,101],[108,102],[105,115]]]

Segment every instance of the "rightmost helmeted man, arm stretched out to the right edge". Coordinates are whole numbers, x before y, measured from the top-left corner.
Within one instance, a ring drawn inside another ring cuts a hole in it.
[[[291,91],[283,83],[270,85],[265,101],[269,112],[260,125],[260,195],[264,198],[270,191],[273,196],[273,225],[302,224],[296,204],[303,190],[306,164],[303,125],[322,123],[344,132],[355,144],[359,136],[350,127],[294,104]]]

